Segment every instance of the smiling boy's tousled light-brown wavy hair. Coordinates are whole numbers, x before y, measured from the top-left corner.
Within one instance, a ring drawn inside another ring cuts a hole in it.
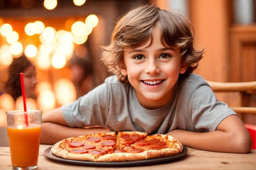
[[[111,44],[102,46],[101,61],[108,71],[117,75],[120,82],[129,84],[127,76],[121,74],[119,67],[123,62],[124,48],[136,48],[148,38],[152,42],[156,26],[161,30],[162,44],[179,47],[182,63],[188,66],[179,79],[186,78],[197,68],[204,50],[194,48],[194,29],[191,22],[180,13],[147,4],[121,16],[112,32]]]

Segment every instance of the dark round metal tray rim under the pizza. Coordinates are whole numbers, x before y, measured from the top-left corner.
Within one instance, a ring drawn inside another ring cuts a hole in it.
[[[182,152],[180,152],[177,155],[173,155],[170,157],[163,157],[163,158],[155,158],[155,159],[146,159],[146,160],[139,160],[139,161],[125,161],[125,162],[92,162],[92,161],[77,161],[77,160],[71,160],[71,159],[63,159],[61,157],[58,157],[54,155],[51,152],[51,148],[49,147],[44,151],[44,155],[48,157],[49,159],[53,159],[55,161],[65,162],[65,163],[74,163],[74,164],[81,164],[81,165],[87,165],[87,166],[140,166],[140,165],[148,165],[153,163],[161,163],[165,161],[171,161],[173,159],[177,159],[180,157],[183,157],[188,152],[188,149],[183,146]]]

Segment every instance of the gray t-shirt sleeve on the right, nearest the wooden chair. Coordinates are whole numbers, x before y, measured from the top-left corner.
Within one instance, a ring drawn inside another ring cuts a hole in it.
[[[218,101],[207,82],[195,86],[187,107],[198,132],[214,131],[223,119],[237,115],[227,104]]]

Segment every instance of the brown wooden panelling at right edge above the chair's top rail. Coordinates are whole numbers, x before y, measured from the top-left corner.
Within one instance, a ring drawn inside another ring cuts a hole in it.
[[[256,81],[256,24],[230,29],[230,82]]]

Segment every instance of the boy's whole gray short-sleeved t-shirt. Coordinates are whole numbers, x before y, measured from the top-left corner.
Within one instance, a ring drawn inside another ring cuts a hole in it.
[[[62,112],[71,127],[99,125],[113,131],[150,134],[165,134],[175,129],[214,131],[223,119],[236,115],[227,104],[216,99],[209,84],[196,74],[179,80],[170,102],[155,110],[142,107],[132,86],[110,76],[83,97],[64,105]]]

